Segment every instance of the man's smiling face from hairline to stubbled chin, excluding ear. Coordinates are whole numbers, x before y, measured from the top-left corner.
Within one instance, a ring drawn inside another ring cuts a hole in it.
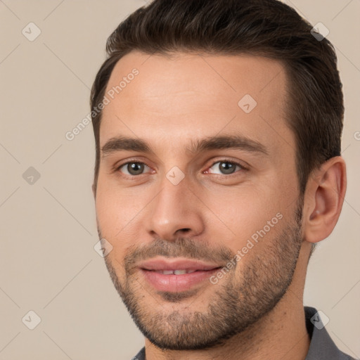
[[[133,51],[112,72],[98,232],[115,288],[160,348],[221,344],[293,280],[302,203],[286,81],[255,56]]]

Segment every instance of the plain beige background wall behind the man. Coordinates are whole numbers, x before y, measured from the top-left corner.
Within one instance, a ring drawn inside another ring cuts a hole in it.
[[[321,309],[335,343],[359,358],[360,2],[286,2],[330,30],[345,91],[347,196],[309,264],[304,304]],[[91,124],[72,141],[65,133],[89,113],[107,37],[145,4],[0,0],[0,360],[126,360],[143,346],[94,251]],[[34,41],[22,34],[30,22],[41,30]],[[34,184],[23,179],[29,167],[40,174]],[[41,318],[34,330],[22,321],[30,310]]]

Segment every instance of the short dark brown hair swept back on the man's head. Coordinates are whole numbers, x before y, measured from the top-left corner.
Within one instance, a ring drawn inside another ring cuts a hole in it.
[[[202,51],[246,53],[280,60],[287,71],[288,127],[295,134],[300,195],[309,174],[340,155],[344,105],[335,50],[328,39],[277,0],[154,0],[131,13],[110,35],[108,58],[91,89],[91,110],[103,101],[111,72],[132,50],[169,55]],[[96,188],[101,112],[93,119]]]

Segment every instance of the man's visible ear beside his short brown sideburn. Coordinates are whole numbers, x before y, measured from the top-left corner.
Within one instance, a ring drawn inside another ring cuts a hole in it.
[[[347,186],[346,165],[341,156],[335,156],[316,169],[304,195],[304,239],[318,243],[335,228],[344,203]]]

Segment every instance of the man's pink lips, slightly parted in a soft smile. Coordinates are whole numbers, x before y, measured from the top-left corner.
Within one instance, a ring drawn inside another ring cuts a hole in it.
[[[178,293],[195,285],[209,285],[209,278],[221,265],[193,259],[150,259],[138,265],[145,280],[156,290]],[[192,270],[189,274],[161,274],[157,271]]]

